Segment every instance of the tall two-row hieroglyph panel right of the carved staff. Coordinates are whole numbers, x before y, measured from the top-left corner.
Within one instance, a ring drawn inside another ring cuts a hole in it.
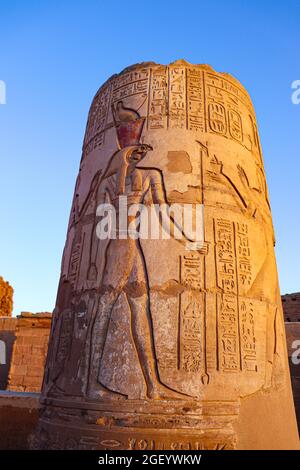
[[[253,305],[239,297],[251,285],[251,251],[248,225],[215,220],[217,283],[222,290],[218,305],[218,361],[223,371],[256,371]]]

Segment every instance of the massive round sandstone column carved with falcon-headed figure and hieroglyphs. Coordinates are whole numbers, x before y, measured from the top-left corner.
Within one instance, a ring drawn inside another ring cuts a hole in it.
[[[96,209],[121,211],[119,196],[204,204],[204,244],[99,240]],[[34,446],[298,447],[274,239],[236,79],[177,61],[108,80],[89,113]]]

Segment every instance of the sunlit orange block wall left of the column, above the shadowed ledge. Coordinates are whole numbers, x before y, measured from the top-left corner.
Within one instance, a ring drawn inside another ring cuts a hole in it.
[[[22,312],[17,318],[8,390],[40,392],[52,315]]]

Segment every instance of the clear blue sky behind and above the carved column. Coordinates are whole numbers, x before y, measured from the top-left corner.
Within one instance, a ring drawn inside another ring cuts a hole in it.
[[[91,99],[142,61],[209,63],[247,88],[281,290],[300,291],[299,18],[299,0],[0,0],[0,275],[14,314],[53,309]]]

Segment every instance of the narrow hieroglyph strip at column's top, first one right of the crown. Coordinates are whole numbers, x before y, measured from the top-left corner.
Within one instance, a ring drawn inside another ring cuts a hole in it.
[[[164,129],[167,125],[168,75],[165,67],[152,70],[149,97],[150,129]]]

